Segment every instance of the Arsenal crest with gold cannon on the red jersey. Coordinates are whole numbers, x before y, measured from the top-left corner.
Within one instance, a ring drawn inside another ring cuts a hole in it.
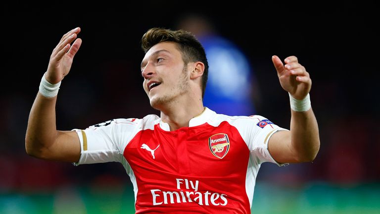
[[[208,138],[208,147],[211,153],[219,158],[224,158],[230,150],[230,140],[227,134],[214,134]]]

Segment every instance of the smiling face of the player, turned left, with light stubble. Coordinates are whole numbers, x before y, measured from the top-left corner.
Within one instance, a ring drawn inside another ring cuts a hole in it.
[[[142,59],[141,70],[142,86],[154,108],[174,102],[189,91],[189,72],[173,42],[158,43],[150,48]]]

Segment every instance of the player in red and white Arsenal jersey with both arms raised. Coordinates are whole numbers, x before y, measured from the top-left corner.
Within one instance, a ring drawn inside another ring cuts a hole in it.
[[[208,63],[189,32],[149,29],[142,36],[143,88],[160,116],[112,119],[56,130],[55,103],[82,40],[81,29],[53,50],[32,106],[26,152],[76,165],[121,162],[134,185],[136,213],[251,213],[260,164],[314,160],[320,146],[311,79],[295,56],[273,56],[289,94],[290,130],[260,115],[218,114],[202,104]],[[244,87],[244,86],[241,86]]]

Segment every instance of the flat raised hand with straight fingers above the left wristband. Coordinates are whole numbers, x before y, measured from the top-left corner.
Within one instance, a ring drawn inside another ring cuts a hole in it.
[[[79,27],[67,32],[51,53],[45,76],[49,83],[58,83],[70,72],[73,58],[82,44],[82,40],[77,39],[79,32],[81,32]],[[73,41],[74,43],[70,45]]]

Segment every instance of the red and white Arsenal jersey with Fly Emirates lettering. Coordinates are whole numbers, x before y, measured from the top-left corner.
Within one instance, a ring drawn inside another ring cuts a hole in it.
[[[134,186],[137,214],[250,214],[260,164],[277,163],[268,140],[285,129],[259,115],[205,108],[189,127],[175,131],[157,115],[74,130],[81,141],[75,164],[121,162]]]

